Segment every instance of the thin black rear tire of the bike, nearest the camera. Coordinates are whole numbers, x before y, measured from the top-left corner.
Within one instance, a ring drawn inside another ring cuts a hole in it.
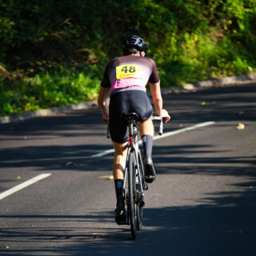
[[[130,231],[131,237],[136,238],[137,230],[137,205],[135,198],[135,177],[134,177],[134,153],[130,152],[128,160],[128,194],[129,194],[129,214],[130,214]]]

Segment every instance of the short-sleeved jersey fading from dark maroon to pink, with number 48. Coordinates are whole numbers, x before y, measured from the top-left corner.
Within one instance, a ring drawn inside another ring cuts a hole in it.
[[[144,90],[146,83],[157,83],[157,66],[151,58],[126,55],[114,58],[106,66],[101,86],[110,87],[110,92],[118,90]]]

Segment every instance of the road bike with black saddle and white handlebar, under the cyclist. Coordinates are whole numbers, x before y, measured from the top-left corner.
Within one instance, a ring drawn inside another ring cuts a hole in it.
[[[143,207],[145,206],[144,191],[148,190],[145,182],[145,172],[142,162],[142,154],[139,149],[138,114],[124,114],[129,130],[129,142],[124,171],[123,198],[126,205],[127,225],[130,226],[131,237],[136,238],[136,232],[142,230]],[[159,132],[163,132],[161,117],[152,117],[159,122]],[[108,138],[110,134],[108,133]]]

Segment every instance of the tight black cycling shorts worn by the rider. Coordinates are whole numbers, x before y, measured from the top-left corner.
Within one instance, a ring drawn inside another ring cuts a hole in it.
[[[110,96],[110,135],[114,142],[124,143],[129,139],[128,127],[122,114],[135,112],[138,121],[150,118],[153,113],[150,98],[142,90],[124,90]]]

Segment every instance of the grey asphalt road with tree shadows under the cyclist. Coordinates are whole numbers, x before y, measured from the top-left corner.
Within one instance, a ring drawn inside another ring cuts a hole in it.
[[[111,148],[96,106],[0,126],[0,197],[50,174],[0,200],[0,254],[255,255],[255,99],[255,83],[164,96],[166,134],[214,124],[154,142],[135,241],[114,223],[113,154],[91,157]]]

